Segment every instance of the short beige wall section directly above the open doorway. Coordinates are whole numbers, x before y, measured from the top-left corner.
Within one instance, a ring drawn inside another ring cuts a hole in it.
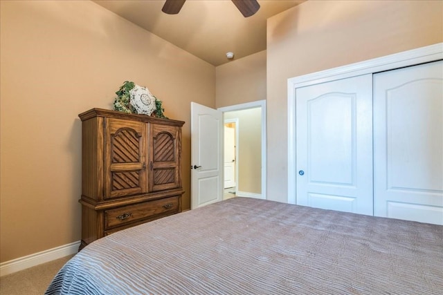
[[[266,99],[266,50],[217,66],[216,106]]]

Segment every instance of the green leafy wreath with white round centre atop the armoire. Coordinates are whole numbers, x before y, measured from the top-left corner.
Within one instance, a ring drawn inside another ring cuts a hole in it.
[[[134,82],[125,81],[116,92],[114,100],[114,111],[123,113],[145,114],[153,117],[165,117],[165,109],[161,106],[161,100],[157,99],[150,91],[144,87],[136,85]]]

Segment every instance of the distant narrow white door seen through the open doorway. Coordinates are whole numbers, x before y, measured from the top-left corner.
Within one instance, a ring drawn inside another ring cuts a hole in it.
[[[224,188],[235,187],[235,129],[224,126]]]

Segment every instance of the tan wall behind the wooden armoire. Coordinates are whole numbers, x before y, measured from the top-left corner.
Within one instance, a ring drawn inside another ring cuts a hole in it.
[[[0,260],[80,240],[81,123],[125,80],[183,120],[190,207],[190,102],[215,107],[215,67],[91,1],[0,1]]]

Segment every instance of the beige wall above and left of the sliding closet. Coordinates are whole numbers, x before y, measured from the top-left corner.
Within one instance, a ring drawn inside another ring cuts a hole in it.
[[[267,198],[287,202],[287,79],[443,41],[443,1],[307,1],[268,19]]]

